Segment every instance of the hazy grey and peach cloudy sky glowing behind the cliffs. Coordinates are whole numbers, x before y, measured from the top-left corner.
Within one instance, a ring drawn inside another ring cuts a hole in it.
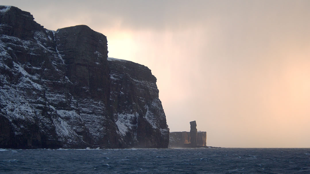
[[[207,146],[310,147],[308,0],[1,2],[151,69],[170,132],[196,120]]]

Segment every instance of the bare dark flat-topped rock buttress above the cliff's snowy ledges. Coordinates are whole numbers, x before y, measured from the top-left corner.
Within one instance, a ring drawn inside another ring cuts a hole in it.
[[[66,65],[66,76],[73,83],[69,93],[80,99],[99,100],[107,106],[110,95],[107,37],[86,25],[77,25],[58,29],[55,40]]]

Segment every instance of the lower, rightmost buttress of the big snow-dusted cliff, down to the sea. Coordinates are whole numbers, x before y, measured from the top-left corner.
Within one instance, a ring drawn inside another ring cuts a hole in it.
[[[108,58],[112,115],[117,133],[138,147],[166,147],[169,129],[158,98],[156,78],[146,66]]]

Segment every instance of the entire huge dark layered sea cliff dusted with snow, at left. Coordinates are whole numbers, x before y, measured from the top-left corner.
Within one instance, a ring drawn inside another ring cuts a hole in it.
[[[0,148],[168,146],[156,78],[108,58],[106,36],[47,30],[14,6],[0,23]]]

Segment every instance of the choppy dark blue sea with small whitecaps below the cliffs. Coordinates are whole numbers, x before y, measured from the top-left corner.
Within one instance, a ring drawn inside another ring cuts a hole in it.
[[[0,173],[310,173],[310,149],[0,149]]]

